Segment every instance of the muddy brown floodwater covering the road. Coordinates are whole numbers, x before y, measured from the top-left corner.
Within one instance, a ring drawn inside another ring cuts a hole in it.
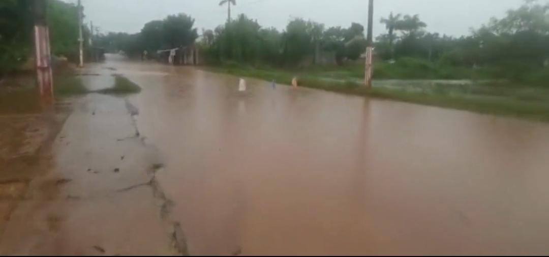
[[[549,126],[109,65],[191,254],[549,254]]]

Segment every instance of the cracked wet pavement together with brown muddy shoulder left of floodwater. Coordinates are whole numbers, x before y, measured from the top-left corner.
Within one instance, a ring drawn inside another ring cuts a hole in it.
[[[69,106],[53,120],[0,116],[0,254],[186,254],[137,108],[98,93]]]

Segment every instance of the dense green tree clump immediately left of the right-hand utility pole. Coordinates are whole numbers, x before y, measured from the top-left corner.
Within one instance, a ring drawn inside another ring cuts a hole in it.
[[[240,14],[237,19],[215,30],[203,32],[200,42],[211,61],[290,65],[309,60],[316,63],[320,53],[335,53],[338,63],[356,60],[366,48],[364,27],[352,23],[348,28],[330,27],[296,18],[284,31],[263,28],[257,21]]]

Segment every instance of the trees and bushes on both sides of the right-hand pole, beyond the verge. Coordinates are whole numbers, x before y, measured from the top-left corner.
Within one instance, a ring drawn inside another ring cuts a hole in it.
[[[526,1],[462,37],[427,31],[418,15],[389,14],[374,45],[374,79],[507,80],[548,86],[549,4]],[[245,15],[199,42],[209,65],[240,64],[312,75],[362,78],[363,27],[324,27],[294,19],[284,31],[261,27]]]

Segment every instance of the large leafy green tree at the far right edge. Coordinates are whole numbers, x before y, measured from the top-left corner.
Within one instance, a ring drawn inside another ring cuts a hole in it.
[[[549,59],[549,3],[525,1],[505,17],[492,18],[473,37],[480,49],[475,63],[497,67],[498,76],[530,80]]]

